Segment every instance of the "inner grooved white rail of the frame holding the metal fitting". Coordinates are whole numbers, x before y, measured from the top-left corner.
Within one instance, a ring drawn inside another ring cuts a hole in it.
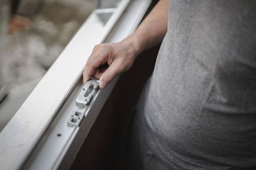
[[[150,2],[131,1],[105,42],[117,42],[131,34],[141,21]],[[67,127],[67,120],[75,108],[76,98],[82,88],[82,80],[80,80],[22,169],[57,169],[60,165],[59,169],[68,169],[117,80],[118,78],[115,78],[106,89],[100,90],[99,94],[93,98],[93,104],[86,111],[86,117],[81,126],[75,129]],[[58,133],[61,133],[61,137],[56,135]]]

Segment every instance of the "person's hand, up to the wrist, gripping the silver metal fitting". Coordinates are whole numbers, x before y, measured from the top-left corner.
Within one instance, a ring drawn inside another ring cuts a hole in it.
[[[104,43],[93,48],[83,72],[83,83],[93,76],[99,79],[103,89],[113,78],[127,71],[133,64],[138,51],[131,43]]]

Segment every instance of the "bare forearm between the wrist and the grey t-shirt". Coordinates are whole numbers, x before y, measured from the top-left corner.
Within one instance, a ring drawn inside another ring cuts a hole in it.
[[[134,46],[136,53],[157,45],[163,41],[167,31],[168,0],[160,0],[138,29],[131,36],[124,39]]]

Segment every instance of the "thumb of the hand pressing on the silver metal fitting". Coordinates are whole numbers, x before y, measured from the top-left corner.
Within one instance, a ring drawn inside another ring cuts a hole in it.
[[[100,76],[99,87],[100,89],[104,89],[108,83],[115,78],[115,76],[121,73],[120,64],[118,62],[113,61],[112,64],[102,73]]]

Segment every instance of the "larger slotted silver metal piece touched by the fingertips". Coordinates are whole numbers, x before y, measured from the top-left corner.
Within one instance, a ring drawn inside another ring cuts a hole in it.
[[[86,107],[92,101],[92,97],[99,89],[99,80],[91,79],[88,80],[82,91],[80,92],[79,96],[76,99],[76,106],[77,107]]]

